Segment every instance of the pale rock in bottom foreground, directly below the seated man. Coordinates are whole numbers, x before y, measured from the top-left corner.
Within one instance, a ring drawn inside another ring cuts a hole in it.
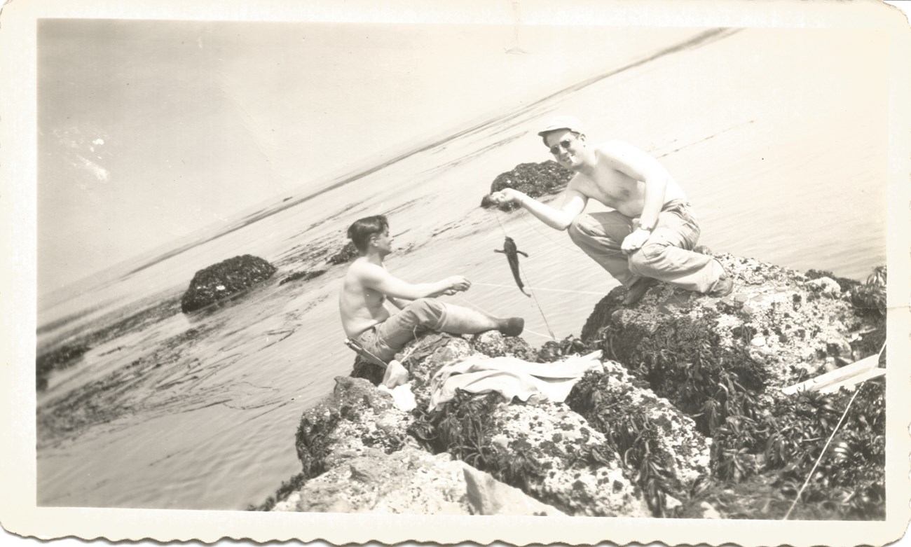
[[[297,432],[303,475],[273,511],[559,514],[448,454],[417,448],[413,418],[363,379],[336,379]]]

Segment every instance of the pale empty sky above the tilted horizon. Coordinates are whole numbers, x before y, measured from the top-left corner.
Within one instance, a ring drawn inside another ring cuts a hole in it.
[[[41,20],[38,293],[696,32]]]

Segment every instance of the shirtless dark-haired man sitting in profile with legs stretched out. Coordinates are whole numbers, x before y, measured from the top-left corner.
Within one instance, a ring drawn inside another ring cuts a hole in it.
[[[348,339],[363,349],[363,357],[383,367],[393,362],[390,368],[401,369],[387,370],[387,379],[390,374],[406,376],[404,368],[392,361],[395,353],[429,330],[476,334],[496,329],[507,336],[518,336],[525,328],[525,319],[495,318],[435,299],[471,287],[471,281],[463,276],[413,284],[386,271],[383,259],[392,252],[393,238],[384,216],[356,220],[348,228],[348,237],[361,256],[354,259],[343,280],[339,297],[342,327]],[[384,306],[386,300],[400,311],[390,314]],[[394,387],[388,383],[388,387]]]

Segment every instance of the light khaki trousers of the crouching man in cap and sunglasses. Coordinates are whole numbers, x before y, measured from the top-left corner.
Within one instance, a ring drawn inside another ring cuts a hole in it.
[[[568,231],[578,248],[625,287],[640,278],[651,278],[696,292],[714,289],[724,268],[718,260],[692,251],[700,230],[690,204],[665,204],[645,244],[628,255],[620,245],[638,226],[639,218],[609,211],[579,215]]]

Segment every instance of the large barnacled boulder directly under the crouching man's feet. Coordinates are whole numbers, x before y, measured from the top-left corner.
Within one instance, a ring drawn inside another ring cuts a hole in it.
[[[869,322],[834,279],[810,279],[752,258],[716,258],[734,280],[729,296],[659,284],[626,308],[623,289],[614,289],[589,317],[582,339],[677,408],[701,414],[705,432],[724,421],[727,403],[755,402],[732,401],[739,394],[768,399],[770,390],[865,357],[851,339]]]

